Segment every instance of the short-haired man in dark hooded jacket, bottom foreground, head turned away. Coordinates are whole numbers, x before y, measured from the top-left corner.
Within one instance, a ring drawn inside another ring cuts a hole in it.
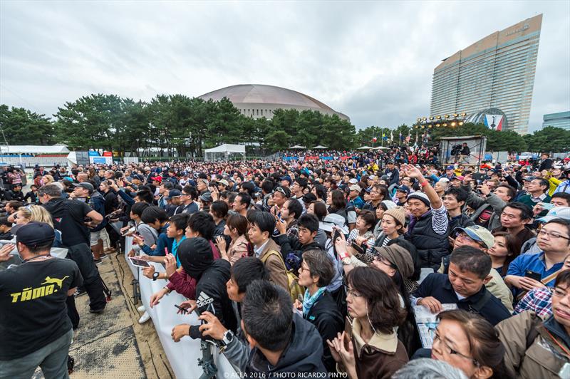
[[[309,321],[293,313],[291,297],[280,286],[268,281],[249,284],[242,304],[242,323],[252,346],[244,371],[247,376],[326,374],[321,336]]]

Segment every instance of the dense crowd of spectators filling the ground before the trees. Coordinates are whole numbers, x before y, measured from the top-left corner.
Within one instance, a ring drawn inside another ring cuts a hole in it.
[[[142,270],[167,280],[150,306],[176,291],[199,313],[173,341],[242,375],[570,378],[570,160],[400,154],[36,167],[0,217],[0,261],[21,259],[0,271],[0,378],[67,376],[74,299],[105,312],[97,265],[125,236],[165,267]]]

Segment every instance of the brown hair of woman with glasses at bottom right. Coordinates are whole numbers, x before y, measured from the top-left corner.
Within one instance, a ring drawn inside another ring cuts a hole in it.
[[[489,321],[462,309],[443,311],[437,318],[440,321],[457,321],[467,336],[473,360],[479,365],[491,368],[492,378],[514,378],[504,363],[505,348],[499,339],[499,333]]]

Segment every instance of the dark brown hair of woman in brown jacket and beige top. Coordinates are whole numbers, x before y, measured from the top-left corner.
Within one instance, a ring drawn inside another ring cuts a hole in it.
[[[391,334],[405,321],[406,311],[388,274],[372,267],[356,267],[348,272],[346,281],[366,298],[368,320],[376,331]]]

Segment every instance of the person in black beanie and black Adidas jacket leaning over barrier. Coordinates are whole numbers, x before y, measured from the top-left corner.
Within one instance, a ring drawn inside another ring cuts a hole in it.
[[[236,316],[232,301],[227,296],[226,283],[229,280],[231,265],[225,259],[214,261],[214,254],[209,242],[202,237],[185,239],[178,246],[180,264],[190,278],[197,281],[196,300],[185,301],[182,307],[198,313],[209,311],[214,313],[222,325],[232,331],[236,330]],[[183,336],[204,338],[199,325],[180,324],[172,328],[172,339],[180,341]]]

